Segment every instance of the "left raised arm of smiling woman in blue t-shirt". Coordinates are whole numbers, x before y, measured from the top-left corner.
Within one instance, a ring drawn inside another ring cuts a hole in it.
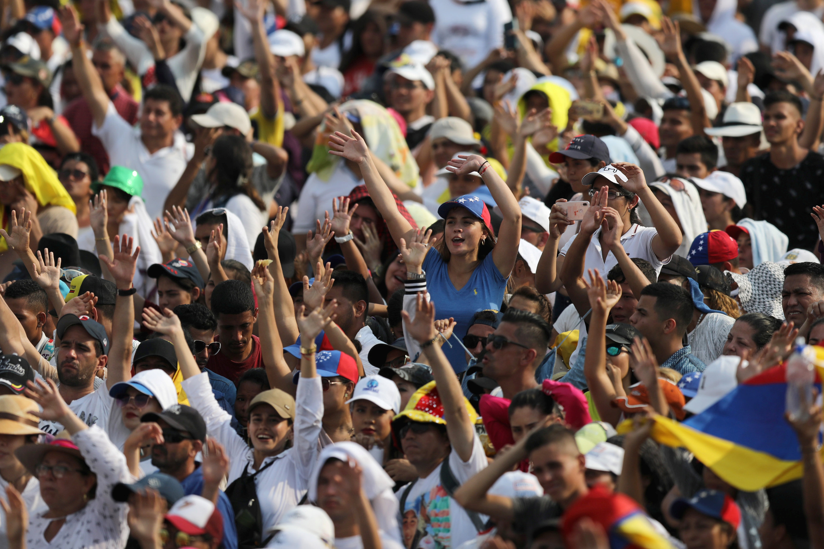
[[[386,226],[389,227],[392,240],[395,240],[396,245],[400,245],[400,239],[408,239],[409,235],[414,231],[414,228],[410,225],[409,221],[406,221],[404,216],[400,215],[400,211],[395,203],[395,197],[392,196],[391,191],[378,173],[375,163],[372,162],[366,141],[355,131],[352,132],[352,135],[353,137],[349,137],[345,133],[340,132],[335,132],[335,134],[331,135],[329,153],[330,155],[345,158],[358,165],[363,175],[363,182],[366,184],[370,198],[372,198],[372,202],[375,202],[377,211],[381,213],[386,221]],[[513,264],[514,263],[515,261],[513,259]]]

